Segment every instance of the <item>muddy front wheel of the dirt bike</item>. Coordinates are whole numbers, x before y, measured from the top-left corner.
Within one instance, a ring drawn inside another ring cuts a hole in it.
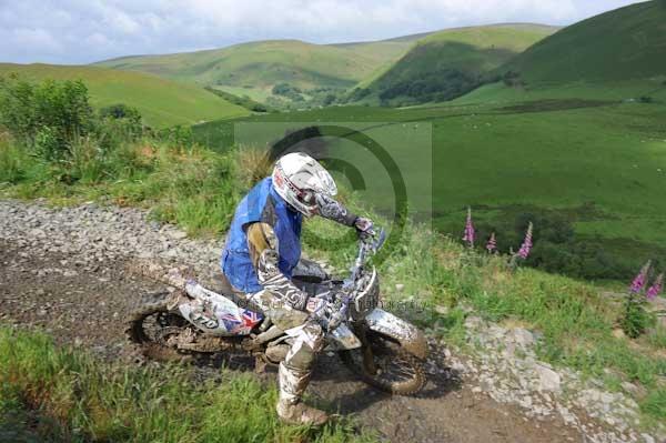
[[[411,395],[425,385],[423,363],[386,335],[367,331],[366,345],[342,351],[344,364],[365,383],[396,395]]]

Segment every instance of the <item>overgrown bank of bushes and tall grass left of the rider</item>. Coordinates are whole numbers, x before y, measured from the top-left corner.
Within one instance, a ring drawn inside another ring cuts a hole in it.
[[[230,155],[193,144],[191,128],[149,138],[132,108],[91,112],[80,82],[33,84],[11,78],[2,88],[2,124],[13,138],[0,139],[0,182],[19,183],[17,194],[101,192],[118,204],[150,202],[154,217],[192,233],[219,233],[229,224],[240,192],[239,165]]]

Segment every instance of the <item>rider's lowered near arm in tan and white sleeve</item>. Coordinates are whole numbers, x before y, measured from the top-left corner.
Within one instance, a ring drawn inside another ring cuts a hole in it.
[[[268,223],[255,222],[248,226],[250,258],[256,270],[259,284],[275,296],[286,300],[294,309],[305,310],[307,293],[296,288],[278,266],[278,238]]]

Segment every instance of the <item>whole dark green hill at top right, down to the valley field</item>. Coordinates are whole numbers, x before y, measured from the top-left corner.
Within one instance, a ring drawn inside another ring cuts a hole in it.
[[[666,101],[666,1],[619,8],[572,24],[494,71],[455,104]]]

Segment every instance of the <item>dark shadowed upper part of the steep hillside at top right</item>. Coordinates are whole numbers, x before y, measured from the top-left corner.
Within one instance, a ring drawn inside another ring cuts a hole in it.
[[[666,74],[666,1],[616,9],[539,41],[502,69],[527,83],[598,82]]]

